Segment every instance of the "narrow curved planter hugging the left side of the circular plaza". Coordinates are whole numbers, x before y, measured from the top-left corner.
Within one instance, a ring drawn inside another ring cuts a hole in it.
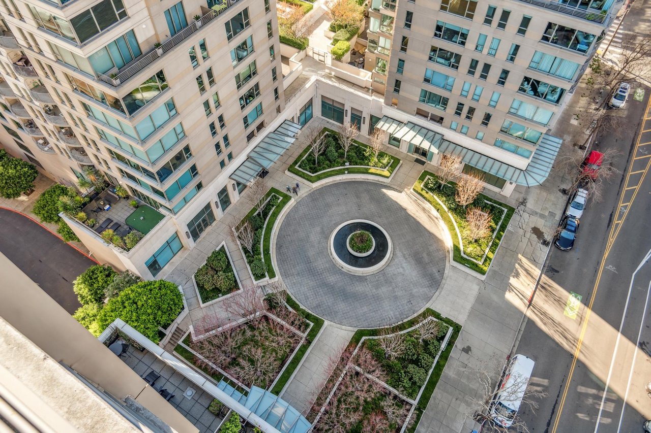
[[[256,230],[253,254],[240,245],[242,256],[246,259],[247,268],[254,283],[259,283],[266,278],[275,278],[276,276],[273,261],[271,261],[271,234],[276,220],[285,205],[292,200],[292,197],[278,189],[271,188],[262,200],[265,203],[262,209],[262,217],[259,216],[258,209],[253,207],[238,224],[238,227],[241,227],[248,220],[253,229]]]

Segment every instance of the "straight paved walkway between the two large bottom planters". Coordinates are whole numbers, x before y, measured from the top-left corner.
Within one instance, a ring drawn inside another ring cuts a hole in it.
[[[280,397],[307,413],[331,373],[331,360],[339,359],[353,334],[352,330],[326,322]]]

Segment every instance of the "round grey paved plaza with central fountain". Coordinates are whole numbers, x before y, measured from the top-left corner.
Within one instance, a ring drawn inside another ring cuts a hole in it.
[[[352,328],[418,313],[439,289],[448,254],[430,214],[372,181],[331,183],[301,197],[283,219],[275,253],[280,276],[303,307]]]

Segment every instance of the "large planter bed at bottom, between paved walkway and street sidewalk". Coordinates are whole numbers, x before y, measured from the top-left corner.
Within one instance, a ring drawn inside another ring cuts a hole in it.
[[[430,332],[421,335],[421,330],[427,328]],[[418,317],[391,328],[355,332],[312,408],[315,431],[343,426],[361,432],[363,427],[374,426],[374,431],[413,432],[460,329],[455,322],[426,309]],[[393,355],[381,344],[389,339],[402,341]],[[342,419],[355,418],[349,425],[339,423],[342,410],[350,411],[350,417]]]

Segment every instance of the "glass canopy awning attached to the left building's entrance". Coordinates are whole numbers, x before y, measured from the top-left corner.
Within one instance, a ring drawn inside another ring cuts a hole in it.
[[[289,146],[292,146],[301,128],[301,125],[285,120],[275,131],[262,138],[230,178],[249,185],[262,170],[270,168],[271,164],[275,163]]]

